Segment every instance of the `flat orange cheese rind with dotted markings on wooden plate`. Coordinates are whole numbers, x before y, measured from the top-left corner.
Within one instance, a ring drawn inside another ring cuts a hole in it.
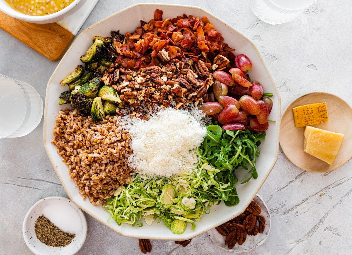
[[[301,105],[292,110],[296,127],[315,125],[329,120],[326,103]]]

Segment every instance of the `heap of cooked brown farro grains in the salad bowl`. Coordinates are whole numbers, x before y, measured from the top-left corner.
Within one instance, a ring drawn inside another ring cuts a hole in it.
[[[131,170],[126,163],[130,135],[121,130],[117,116],[107,115],[99,123],[83,117],[78,110],[60,111],[56,116],[52,143],[68,165],[71,179],[83,199],[98,205],[114,190],[130,182]]]

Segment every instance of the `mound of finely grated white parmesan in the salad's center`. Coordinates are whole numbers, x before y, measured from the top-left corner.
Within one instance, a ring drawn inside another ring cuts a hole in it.
[[[126,121],[126,119],[125,119]],[[160,109],[149,120],[127,120],[131,135],[131,168],[149,177],[184,174],[194,170],[196,148],[206,136],[207,119],[196,107],[187,110]]]

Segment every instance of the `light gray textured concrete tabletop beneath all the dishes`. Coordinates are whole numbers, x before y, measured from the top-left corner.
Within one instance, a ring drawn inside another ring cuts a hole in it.
[[[82,29],[138,2],[142,1],[101,0]],[[315,91],[336,94],[352,105],[349,0],[317,1],[282,25],[260,21],[248,1],[143,2],[200,6],[243,32],[268,65],[283,110]],[[0,42],[0,73],[33,85],[44,100],[46,83],[58,63],[2,30]],[[41,198],[66,196],[44,151],[43,121],[25,137],[0,140],[0,174],[0,254],[31,254],[22,237],[27,210]],[[249,254],[352,254],[352,161],[333,172],[315,174],[297,168],[280,149],[259,194],[270,208],[272,228],[266,242]],[[87,220],[88,237],[78,254],[140,254],[137,239],[120,236],[88,215]],[[151,244],[151,254],[227,254],[207,234],[186,248],[171,241]]]

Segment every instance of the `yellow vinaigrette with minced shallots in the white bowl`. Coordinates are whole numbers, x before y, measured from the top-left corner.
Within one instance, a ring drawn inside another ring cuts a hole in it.
[[[61,11],[74,0],[5,0],[14,10],[32,16],[43,16]]]

